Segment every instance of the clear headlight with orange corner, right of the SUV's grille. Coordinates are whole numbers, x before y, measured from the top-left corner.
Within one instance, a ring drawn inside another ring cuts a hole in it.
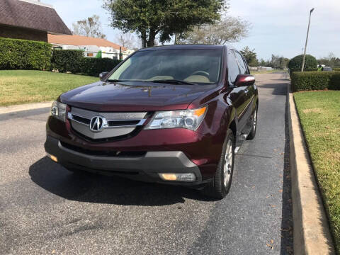
[[[208,106],[204,106],[193,110],[156,112],[145,129],[188,128],[189,130],[196,130],[207,109]]]

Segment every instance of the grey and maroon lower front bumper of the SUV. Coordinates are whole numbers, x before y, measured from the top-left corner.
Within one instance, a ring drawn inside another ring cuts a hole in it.
[[[57,157],[58,163],[69,169],[115,174],[139,181],[173,183],[181,185],[199,185],[209,180],[202,180],[200,169],[191,162],[186,154],[179,151],[146,152],[137,157],[108,157],[84,154],[64,147],[60,140],[47,135],[45,151]],[[193,173],[196,181],[163,181],[160,173]]]

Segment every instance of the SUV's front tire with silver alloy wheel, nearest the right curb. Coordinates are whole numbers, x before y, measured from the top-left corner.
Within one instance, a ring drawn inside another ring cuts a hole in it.
[[[232,174],[234,173],[234,154],[234,134],[232,133],[232,130],[228,130],[225,137],[225,142],[223,143],[222,154],[215,172],[215,176],[212,181],[208,183],[208,185],[203,189],[203,194],[205,196],[217,199],[222,199],[227,196],[230,187],[232,186]]]

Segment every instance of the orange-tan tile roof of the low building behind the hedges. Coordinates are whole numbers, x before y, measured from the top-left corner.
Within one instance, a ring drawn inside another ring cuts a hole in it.
[[[47,35],[48,42],[59,44],[59,45],[96,45],[98,47],[113,47],[119,50],[120,45],[110,42],[101,38],[89,38],[81,35]],[[127,50],[127,48],[122,47],[122,50]]]

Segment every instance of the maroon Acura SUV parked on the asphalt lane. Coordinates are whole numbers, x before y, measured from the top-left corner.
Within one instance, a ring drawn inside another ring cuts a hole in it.
[[[234,152],[256,132],[258,91],[231,47],[142,49],[101,81],[62,94],[47,120],[47,155],[69,171],[227,195]]]

